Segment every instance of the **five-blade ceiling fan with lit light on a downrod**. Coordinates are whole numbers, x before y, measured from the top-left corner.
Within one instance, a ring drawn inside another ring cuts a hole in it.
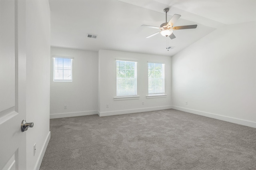
[[[169,22],[167,22],[167,12],[169,11],[169,8],[165,8],[164,12],[165,12],[165,23],[161,24],[160,27],[156,27],[156,26],[147,26],[147,25],[142,25],[143,27],[148,27],[148,28],[156,28],[156,29],[160,29],[159,32],[156,32],[150,36],[147,36],[146,38],[150,38],[152,36],[155,36],[156,34],[161,34],[162,36],[166,36],[166,37],[170,37],[170,39],[174,39],[176,38],[174,36],[174,34],[172,33],[173,30],[184,30],[184,29],[192,29],[192,28],[196,28],[197,25],[189,25],[189,26],[176,26],[173,27],[173,25],[175,24],[175,22],[180,18],[181,15],[178,14],[174,14],[172,16],[172,18],[170,19]]]

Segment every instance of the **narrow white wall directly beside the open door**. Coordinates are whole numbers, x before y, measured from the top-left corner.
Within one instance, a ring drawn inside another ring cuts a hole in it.
[[[48,141],[50,112],[50,7],[48,0],[26,1],[26,164],[40,166]],[[34,156],[34,144],[36,154]]]

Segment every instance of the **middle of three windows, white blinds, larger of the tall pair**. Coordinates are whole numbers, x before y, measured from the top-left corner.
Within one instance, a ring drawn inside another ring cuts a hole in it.
[[[137,62],[116,60],[116,96],[137,95]]]

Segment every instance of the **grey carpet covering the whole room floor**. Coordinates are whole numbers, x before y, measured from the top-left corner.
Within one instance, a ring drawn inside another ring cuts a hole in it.
[[[256,128],[174,109],[50,119],[40,170],[256,170]]]

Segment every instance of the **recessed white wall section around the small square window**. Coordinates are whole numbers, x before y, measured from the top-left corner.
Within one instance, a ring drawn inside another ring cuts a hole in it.
[[[97,114],[98,53],[51,47],[51,56],[74,57],[72,82],[53,81],[50,73],[50,118]],[[50,55],[49,55],[50,57]],[[67,105],[67,109],[64,109]]]

